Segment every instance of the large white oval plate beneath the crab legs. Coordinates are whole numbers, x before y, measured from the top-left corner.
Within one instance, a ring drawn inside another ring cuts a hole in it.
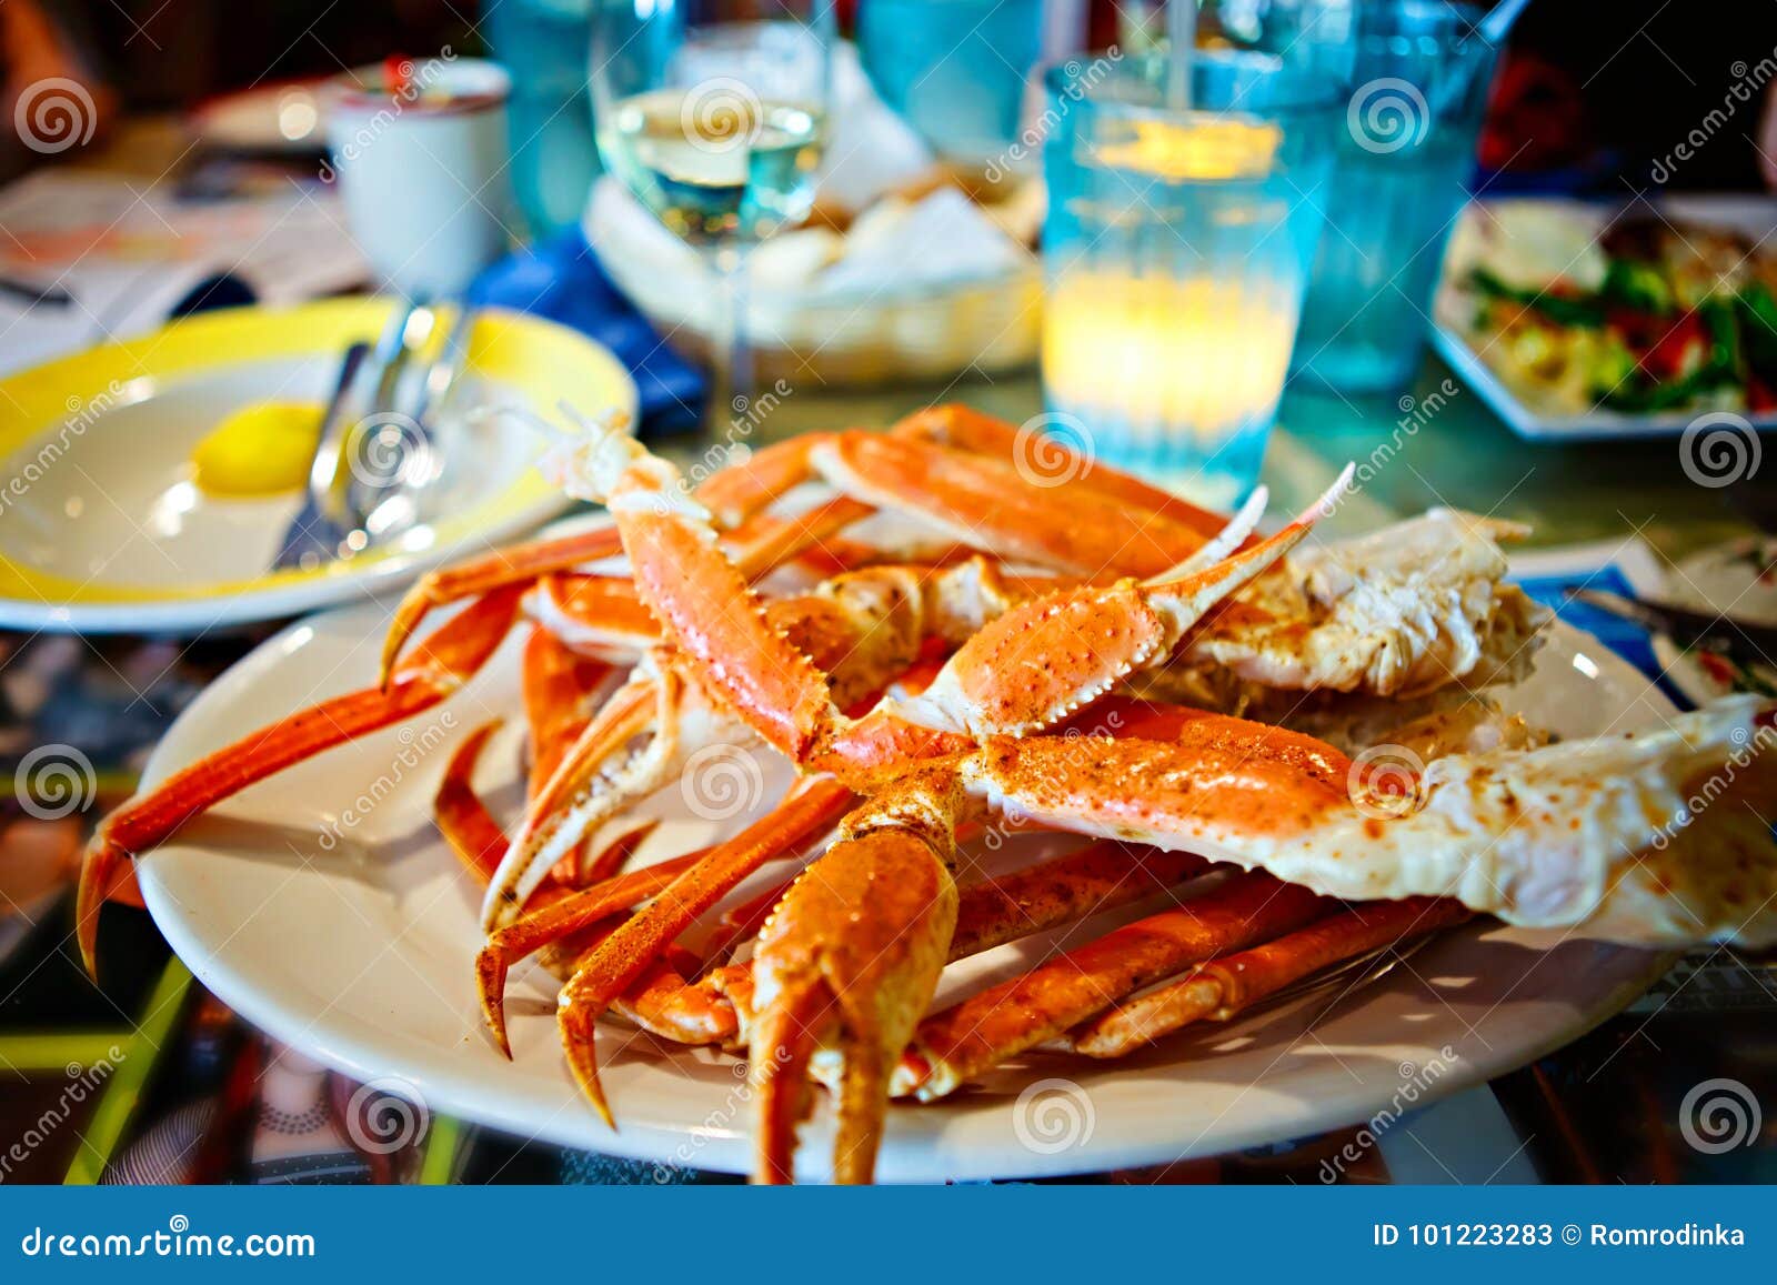
[[[146,780],[368,681],[380,635],[380,613],[364,606],[267,642],[187,709]],[[1566,734],[1621,730],[1670,711],[1635,670],[1564,627],[1521,695]],[[450,745],[515,707],[517,645],[508,642],[441,711],[263,782],[146,857],[147,906],[206,986],[348,1075],[400,1077],[432,1111],[526,1137],[741,1171],[750,1164],[750,1104],[736,1059],[601,1027],[620,1120],[613,1134],[562,1063],[546,974],[514,974],[514,1063],[482,1031],[471,985],[478,894],[458,876],[428,809]],[[510,741],[490,746],[478,780],[508,809],[519,796],[510,750]],[[746,796],[771,798],[782,770],[741,778]],[[677,787],[656,803],[672,819],[643,857],[739,823],[695,819]],[[956,965],[945,985],[1015,970],[1020,958],[1020,947],[1002,947]],[[1452,931],[1331,1011],[1333,995],[1310,994],[1180,1033],[1123,1063],[1032,1056],[944,1104],[896,1105],[880,1177],[1077,1173],[1352,1123],[1390,1102],[1398,1109],[1407,1084],[1406,1100],[1423,1102],[1525,1065],[1621,1010],[1663,967],[1658,954],[1553,933]],[[823,1173],[828,1139],[825,1121],[805,1130],[807,1177]]]

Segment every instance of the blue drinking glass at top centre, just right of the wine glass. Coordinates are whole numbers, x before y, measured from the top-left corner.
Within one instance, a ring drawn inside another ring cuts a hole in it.
[[[940,155],[981,164],[1018,133],[1043,0],[858,0],[871,84]]]

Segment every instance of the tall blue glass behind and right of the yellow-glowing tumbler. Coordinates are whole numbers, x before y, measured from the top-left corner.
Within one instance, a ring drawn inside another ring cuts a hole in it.
[[[1478,5],[1375,0],[1358,9],[1295,368],[1340,393],[1406,387],[1430,325],[1445,242],[1468,201],[1498,55]]]

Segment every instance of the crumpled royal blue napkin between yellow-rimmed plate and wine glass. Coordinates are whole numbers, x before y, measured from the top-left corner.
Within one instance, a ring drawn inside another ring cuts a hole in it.
[[[704,375],[618,293],[578,229],[508,254],[469,286],[469,300],[570,325],[615,352],[641,393],[643,434],[698,425]]]

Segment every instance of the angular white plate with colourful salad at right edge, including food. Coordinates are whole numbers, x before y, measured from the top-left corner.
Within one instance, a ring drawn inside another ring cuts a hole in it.
[[[1532,441],[1777,428],[1773,227],[1749,197],[1471,204],[1432,343]]]

